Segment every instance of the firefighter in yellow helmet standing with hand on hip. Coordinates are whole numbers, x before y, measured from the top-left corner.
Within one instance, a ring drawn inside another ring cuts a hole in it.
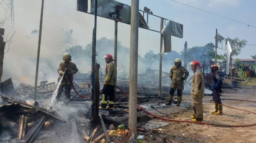
[[[175,65],[170,70],[170,78],[172,80],[172,84],[170,86],[169,98],[168,102],[166,102],[166,105],[171,105],[174,93],[177,89],[176,106],[179,106],[182,99],[182,90],[184,89],[184,80],[186,80],[189,76],[189,71],[181,66],[181,59],[175,59],[174,63]]]

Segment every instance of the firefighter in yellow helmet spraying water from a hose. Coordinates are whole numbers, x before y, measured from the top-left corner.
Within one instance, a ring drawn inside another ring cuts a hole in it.
[[[71,82],[69,79],[69,76],[71,80],[73,80],[73,75],[78,72],[77,66],[75,63],[70,62],[71,61],[71,55],[69,53],[64,53],[63,55],[64,62],[61,62],[59,64],[58,73],[59,73],[59,79],[58,83],[60,83],[58,94],[56,96],[56,100],[59,101],[60,95],[62,93],[63,88],[65,87],[65,99],[70,98],[70,91],[71,91]],[[66,71],[66,72],[65,72]],[[63,76],[63,78],[62,78]],[[60,79],[62,78],[62,81]]]

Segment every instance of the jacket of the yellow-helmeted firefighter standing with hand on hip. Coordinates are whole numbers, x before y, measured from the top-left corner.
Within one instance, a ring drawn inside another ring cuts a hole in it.
[[[184,76],[185,74],[185,76]],[[181,78],[184,76],[185,79],[189,76],[189,71],[186,70],[186,68],[179,66],[179,68],[174,65],[170,70],[170,77],[172,76],[172,86],[174,86],[175,83],[177,83],[177,89],[184,89],[184,81],[181,80]]]

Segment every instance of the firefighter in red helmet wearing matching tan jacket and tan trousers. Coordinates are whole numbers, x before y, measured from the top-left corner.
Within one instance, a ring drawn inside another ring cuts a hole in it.
[[[194,60],[190,62],[189,65],[191,65],[194,71],[190,93],[190,96],[193,98],[194,112],[191,118],[192,121],[201,122],[203,120],[202,98],[204,98],[204,74],[202,73],[202,67],[198,61]]]

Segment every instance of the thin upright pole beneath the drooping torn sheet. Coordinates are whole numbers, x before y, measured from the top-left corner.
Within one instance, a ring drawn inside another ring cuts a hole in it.
[[[161,18],[160,31],[164,28],[164,19]],[[159,88],[158,96],[161,97],[161,88],[162,88],[162,52],[163,52],[163,36],[160,37],[160,60],[159,60]]]

